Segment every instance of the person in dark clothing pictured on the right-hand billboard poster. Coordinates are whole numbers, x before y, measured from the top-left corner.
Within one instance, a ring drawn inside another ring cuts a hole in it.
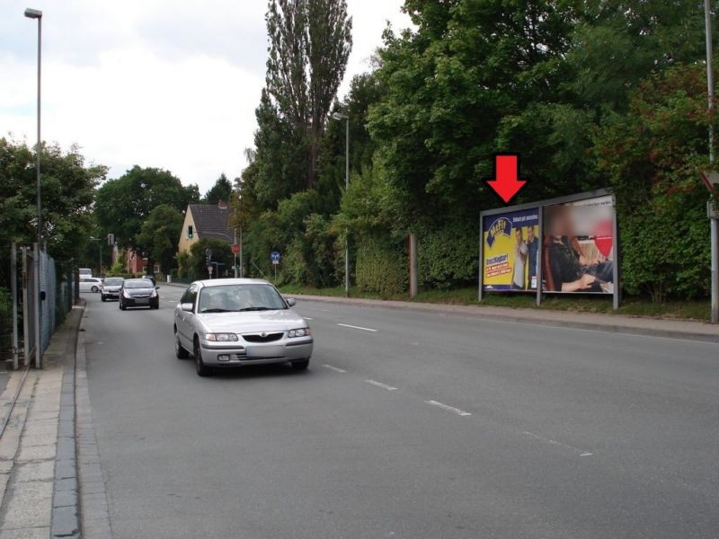
[[[613,291],[613,262],[608,261],[599,251],[585,252],[579,236],[587,237],[573,221],[589,221],[590,211],[571,206],[546,208],[546,289],[550,292],[595,292]],[[574,212],[573,212],[574,210]],[[572,213],[573,212],[573,213]],[[596,213],[596,212],[594,212]],[[582,215],[583,214],[583,215]]]

